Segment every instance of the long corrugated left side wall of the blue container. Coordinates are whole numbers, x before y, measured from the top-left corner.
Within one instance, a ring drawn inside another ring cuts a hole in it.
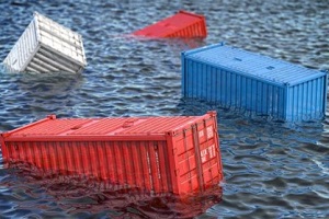
[[[248,78],[201,61],[184,58],[182,92],[186,97],[245,108],[259,115],[285,117],[283,87]]]

